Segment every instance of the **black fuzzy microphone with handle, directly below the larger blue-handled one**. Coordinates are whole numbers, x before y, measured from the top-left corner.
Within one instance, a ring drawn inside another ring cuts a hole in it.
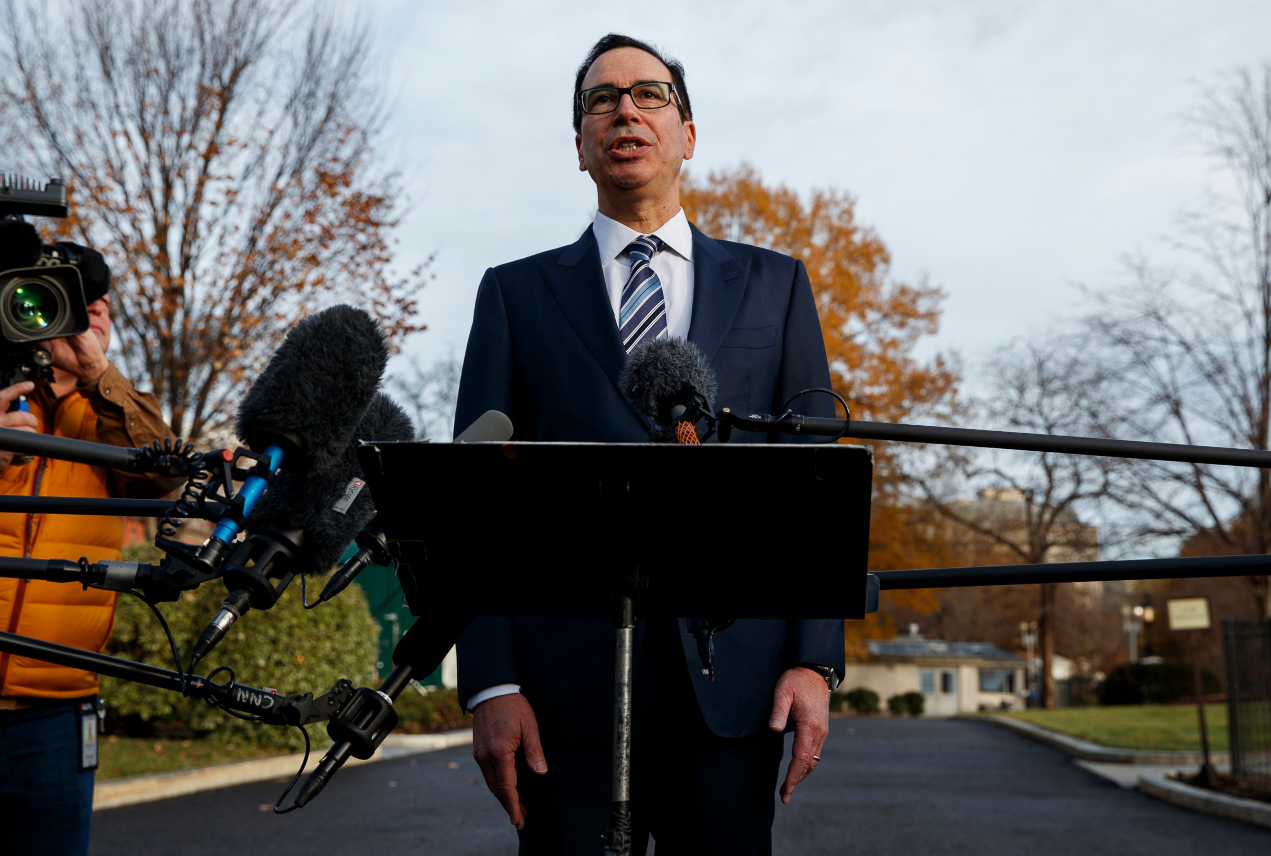
[[[194,644],[192,667],[249,610],[272,607],[296,574],[325,574],[355,537],[362,538],[358,531],[365,531],[375,516],[375,503],[370,492],[364,490],[366,480],[357,448],[362,439],[412,437],[414,427],[405,411],[388,395],[376,392],[334,465],[323,470],[285,470],[275,476],[248,518],[247,537],[221,574],[230,593]],[[350,573],[334,591],[328,591],[328,584],[319,602],[334,597],[366,564]]]

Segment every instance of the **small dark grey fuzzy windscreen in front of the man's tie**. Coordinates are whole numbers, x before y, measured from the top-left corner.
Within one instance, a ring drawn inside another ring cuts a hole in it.
[[[716,375],[702,349],[680,338],[636,347],[618,375],[618,387],[660,428],[671,427],[671,408],[693,387],[714,406]],[[674,437],[671,439],[674,442]]]

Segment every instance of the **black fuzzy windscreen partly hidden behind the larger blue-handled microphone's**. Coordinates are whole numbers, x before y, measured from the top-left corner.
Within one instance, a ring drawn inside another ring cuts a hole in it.
[[[248,527],[304,530],[300,573],[328,573],[375,516],[375,503],[357,461],[360,442],[413,438],[414,427],[405,411],[384,392],[376,392],[336,465],[308,472],[278,472],[252,508]]]

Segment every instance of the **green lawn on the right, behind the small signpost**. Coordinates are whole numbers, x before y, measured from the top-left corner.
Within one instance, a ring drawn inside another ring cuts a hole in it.
[[[1061,707],[1005,714],[1033,725],[1118,749],[1200,752],[1195,705]],[[1211,752],[1227,751],[1227,705],[1205,705]]]

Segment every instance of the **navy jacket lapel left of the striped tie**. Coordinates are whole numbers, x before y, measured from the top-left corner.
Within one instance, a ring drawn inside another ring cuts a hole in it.
[[[627,357],[618,339],[618,321],[609,305],[600,249],[591,227],[567,246],[555,263],[540,262],[539,267],[569,324],[616,385]]]

